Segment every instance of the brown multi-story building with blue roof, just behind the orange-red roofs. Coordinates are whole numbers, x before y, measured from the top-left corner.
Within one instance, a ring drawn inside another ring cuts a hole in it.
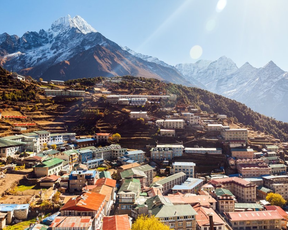
[[[82,191],[82,188],[87,185],[95,185],[99,175],[96,170],[81,170],[72,171],[69,175],[69,189],[70,191]]]

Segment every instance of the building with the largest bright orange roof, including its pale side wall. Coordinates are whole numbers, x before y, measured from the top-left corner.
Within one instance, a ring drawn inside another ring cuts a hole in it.
[[[76,199],[71,198],[60,208],[61,216],[91,216],[92,230],[101,229],[105,215],[106,195],[85,192]]]

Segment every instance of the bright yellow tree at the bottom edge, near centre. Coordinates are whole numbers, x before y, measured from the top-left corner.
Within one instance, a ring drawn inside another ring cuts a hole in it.
[[[139,216],[132,224],[131,230],[169,230],[169,226],[162,223],[155,216]]]

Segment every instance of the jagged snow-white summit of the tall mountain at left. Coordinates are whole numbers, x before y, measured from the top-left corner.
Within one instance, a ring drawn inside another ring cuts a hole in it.
[[[97,32],[91,25],[89,25],[83,18],[76,15],[74,18],[68,14],[65,17],[60,17],[51,25],[51,30],[60,32],[69,28],[77,28],[81,33],[88,34],[90,32]]]

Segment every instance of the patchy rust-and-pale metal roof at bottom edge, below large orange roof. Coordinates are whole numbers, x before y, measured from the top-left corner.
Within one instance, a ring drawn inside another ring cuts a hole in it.
[[[56,216],[50,228],[89,228],[92,226],[93,219],[91,216]]]

